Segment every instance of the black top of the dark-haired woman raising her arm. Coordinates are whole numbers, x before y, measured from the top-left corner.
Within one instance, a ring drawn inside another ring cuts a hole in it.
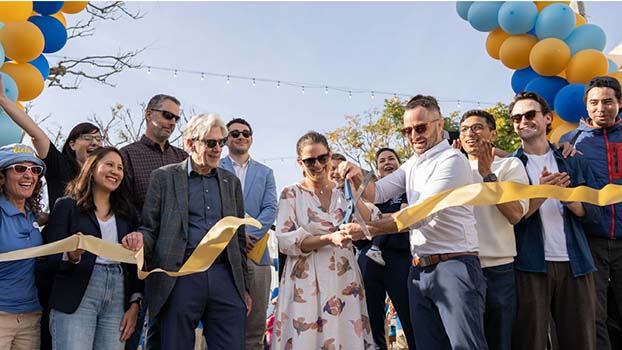
[[[47,167],[45,181],[48,186],[48,203],[50,204],[50,211],[52,211],[54,203],[56,203],[58,198],[65,195],[65,187],[78,176],[78,172],[71,166],[69,158],[62,154],[51,140],[50,150],[43,162]]]

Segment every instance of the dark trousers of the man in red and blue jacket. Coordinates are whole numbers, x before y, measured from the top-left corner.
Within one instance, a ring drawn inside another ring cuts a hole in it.
[[[594,272],[596,286],[596,344],[598,350],[610,350],[611,341],[607,327],[608,313],[622,317],[622,241],[607,238],[588,237],[594,264],[598,271]],[[611,287],[611,288],[609,288]],[[607,292],[613,300],[608,306]]]

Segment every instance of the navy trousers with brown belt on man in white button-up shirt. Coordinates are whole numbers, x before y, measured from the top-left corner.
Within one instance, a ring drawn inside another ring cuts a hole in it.
[[[486,282],[476,256],[410,268],[410,319],[417,348],[488,349],[484,337]]]

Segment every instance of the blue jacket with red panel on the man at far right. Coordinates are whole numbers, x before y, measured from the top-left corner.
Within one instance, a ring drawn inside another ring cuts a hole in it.
[[[576,130],[560,139],[560,142],[574,141],[574,147],[583,153],[583,159],[594,174],[597,189],[608,184],[622,185],[622,120],[608,128],[593,127],[582,120]],[[593,236],[622,238],[622,203],[603,207],[602,219],[595,227],[586,227]]]

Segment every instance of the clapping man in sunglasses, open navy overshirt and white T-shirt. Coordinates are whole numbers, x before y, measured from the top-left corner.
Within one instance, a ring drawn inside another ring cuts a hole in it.
[[[548,142],[553,115],[541,96],[518,93],[509,108],[521,139],[511,156],[525,165],[531,184],[595,187],[581,156],[564,158]],[[518,302],[512,349],[544,349],[549,315],[560,349],[595,349],[596,268],[583,227],[598,225],[600,217],[600,208],[588,203],[530,200],[529,210],[514,226]]]

